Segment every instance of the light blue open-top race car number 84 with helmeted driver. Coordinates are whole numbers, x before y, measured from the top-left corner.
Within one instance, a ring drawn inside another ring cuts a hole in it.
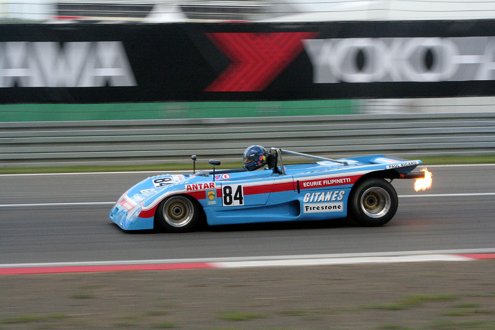
[[[316,159],[284,165],[282,155]],[[196,156],[192,156],[196,161]],[[383,155],[329,159],[259,145],[248,147],[243,168],[192,175],[158,175],[126,191],[110,211],[124,230],[193,230],[201,221],[230,225],[352,217],[362,226],[382,226],[397,210],[393,179],[422,179],[411,172],[420,160]],[[387,181],[386,179],[389,179]]]

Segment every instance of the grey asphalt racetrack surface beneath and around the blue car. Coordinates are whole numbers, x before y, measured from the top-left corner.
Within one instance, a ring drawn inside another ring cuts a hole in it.
[[[393,182],[394,219],[380,228],[349,220],[211,227],[190,234],[126,233],[111,205],[1,206],[0,264],[424,251],[495,247],[495,166],[431,167],[434,187]],[[0,204],[115,201],[151,173],[0,176]]]

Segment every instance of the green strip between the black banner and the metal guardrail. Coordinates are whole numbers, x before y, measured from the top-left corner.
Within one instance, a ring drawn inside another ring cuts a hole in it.
[[[0,122],[236,118],[354,114],[351,100],[0,104]]]

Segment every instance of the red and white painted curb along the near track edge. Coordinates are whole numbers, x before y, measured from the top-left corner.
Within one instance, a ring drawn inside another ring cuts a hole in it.
[[[162,271],[178,269],[224,269],[255,267],[289,267],[351,265],[369,263],[473,261],[495,259],[495,249],[347,253],[305,256],[267,256],[244,258],[205,258],[170,260],[131,260],[95,262],[59,262],[0,264],[0,275],[91,273],[123,271]]]

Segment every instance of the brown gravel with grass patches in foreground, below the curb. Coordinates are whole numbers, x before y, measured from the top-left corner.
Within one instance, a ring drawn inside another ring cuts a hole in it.
[[[0,276],[0,329],[495,329],[495,260]]]

